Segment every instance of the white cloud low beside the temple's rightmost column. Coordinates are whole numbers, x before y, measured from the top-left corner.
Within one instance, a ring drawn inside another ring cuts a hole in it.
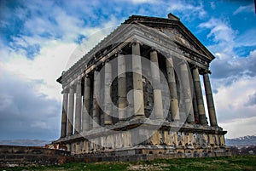
[[[224,81],[212,80],[214,85],[218,84],[218,93],[214,94],[214,98],[219,122],[255,116],[256,106],[246,103],[255,92],[256,77],[240,77],[229,86]]]

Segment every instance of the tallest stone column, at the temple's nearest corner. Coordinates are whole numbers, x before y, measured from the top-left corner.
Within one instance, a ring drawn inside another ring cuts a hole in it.
[[[133,102],[135,117],[145,117],[143,98],[143,69],[140,44],[132,43]]]

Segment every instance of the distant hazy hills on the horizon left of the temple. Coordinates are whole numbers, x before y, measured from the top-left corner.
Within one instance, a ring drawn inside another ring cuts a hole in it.
[[[51,140],[0,140],[0,145],[44,146]]]

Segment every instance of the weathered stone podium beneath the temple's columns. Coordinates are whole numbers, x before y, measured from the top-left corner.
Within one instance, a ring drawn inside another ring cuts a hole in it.
[[[224,134],[226,131],[219,127],[159,123],[139,118],[74,134],[54,143],[67,145],[67,151],[76,156],[102,158],[96,160],[125,156],[131,159],[142,157],[145,160],[150,157],[229,156]]]

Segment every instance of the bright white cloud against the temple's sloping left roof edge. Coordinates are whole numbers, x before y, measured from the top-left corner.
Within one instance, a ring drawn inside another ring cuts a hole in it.
[[[49,99],[60,101],[61,85],[55,80],[60,77],[61,71],[73,66],[96,43],[106,37],[113,27],[117,26],[118,21],[112,15],[110,20],[102,22],[100,26],[85,27],[82,26],[81,20],[68,16],[62,9],[56,8],[53,13],[57,25],[45,17],[34,17],[25,23],[25,28],[32,30],[32,35],[13,37],[14,41],[9,43],[10,48],[1,46],[0,67],[27,82],[40,81],[37,84],[38,94],[45,94]],[[58,31],[61,38],[44,37],[41,35],[44,31],[53,35]],[[79,35],[85,37],[81,46],[74,43]],[[15,48],[27,48],[33,44],[38,44],[40,50],[38,54],[34,54],[32,60],[27,58],[25,49]]]

